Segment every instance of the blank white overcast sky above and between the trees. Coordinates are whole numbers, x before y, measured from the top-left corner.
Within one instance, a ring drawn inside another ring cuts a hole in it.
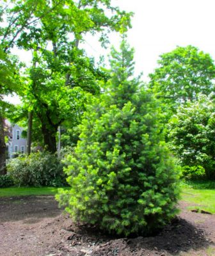
[[[129,44],[134,47],[136,74],[143,72],[143,80],[153,72],[159,55],[177,45],[193,45],[208,52],[215,60],[215,0],[112,0],[121,10],[134,12]],[[90,55],[107,53],[95,38],[86,38]],[[117,45],[119,37],[111,36]],[[28,54],[19,54],[28,61]]]

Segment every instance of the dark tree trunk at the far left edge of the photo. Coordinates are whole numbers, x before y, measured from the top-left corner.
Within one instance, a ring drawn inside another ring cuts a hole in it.
[[[6,144],[4,141],[4,120],[0,113],[0,175],[6,174]]]

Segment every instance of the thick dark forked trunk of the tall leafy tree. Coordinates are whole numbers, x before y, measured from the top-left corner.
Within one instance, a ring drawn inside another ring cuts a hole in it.
[[[52,131],[50,131],[42,124],[45,149],[54,154],[57,151],[56,133],[58,131],[58,126],[52,128]]]

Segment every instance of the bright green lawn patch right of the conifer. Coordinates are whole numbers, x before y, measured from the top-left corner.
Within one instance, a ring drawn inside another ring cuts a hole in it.
[[[215,182],[186,182],[182,184],[182,201],[189,209],[198,209],[215,214]]]

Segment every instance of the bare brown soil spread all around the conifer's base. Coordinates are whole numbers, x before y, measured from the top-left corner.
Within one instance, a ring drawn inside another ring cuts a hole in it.
[[[187,210],[150,237],[119,238],[73,223],[53,196],[0,198],[1,256],[215,255],[215,217]]]

